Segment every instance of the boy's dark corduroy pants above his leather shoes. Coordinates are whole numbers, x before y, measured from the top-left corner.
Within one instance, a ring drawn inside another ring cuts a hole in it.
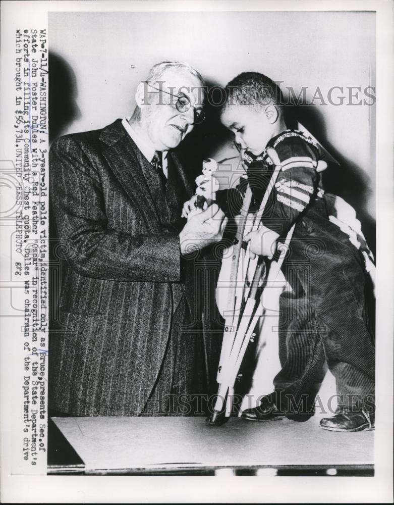
[[[307,419],[326,363],[338,405],[372,412],[375,346],[363,257],[334,225],[313,218],[297,224],[284,263],[293,290],[280,296],[276,401],[289,417]]]

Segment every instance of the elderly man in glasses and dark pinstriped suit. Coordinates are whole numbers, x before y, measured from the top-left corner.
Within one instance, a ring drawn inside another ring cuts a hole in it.
[[[67,247],[49,347],[54,411],[192,414],[192,396],[208,392],[217,361],[192,324],[190,252],[219,241],[226,219],[216,205],[181,219],[194,189],[173,151],[203,119],[202,90],[192,67],[159,63],[130,118],[52,144],[53,215]]]

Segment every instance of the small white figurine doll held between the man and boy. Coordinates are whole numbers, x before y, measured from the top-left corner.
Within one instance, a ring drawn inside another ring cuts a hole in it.
[[[202,174],[196,178],[196,193],[184,205],[183,217],[189,220],[212,205],[212,201],[216,199],[216,191],[219,189],[219,183],[214,176],[216,170],[217,163],[213,158],[202,162]]]

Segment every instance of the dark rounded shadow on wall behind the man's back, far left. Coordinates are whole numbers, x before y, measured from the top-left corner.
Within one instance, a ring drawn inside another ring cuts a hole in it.
[[[81,116],[78,108],[77,79],[61,56],[49,52],[49,143]]]

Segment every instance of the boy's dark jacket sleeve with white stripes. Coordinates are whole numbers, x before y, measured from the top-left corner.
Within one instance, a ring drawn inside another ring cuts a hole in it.
[[[300,137],[290,137],[280,142],[275,151],[282,168],[262,220],[267,228],[284,236],[317,191],[318,150]]]

